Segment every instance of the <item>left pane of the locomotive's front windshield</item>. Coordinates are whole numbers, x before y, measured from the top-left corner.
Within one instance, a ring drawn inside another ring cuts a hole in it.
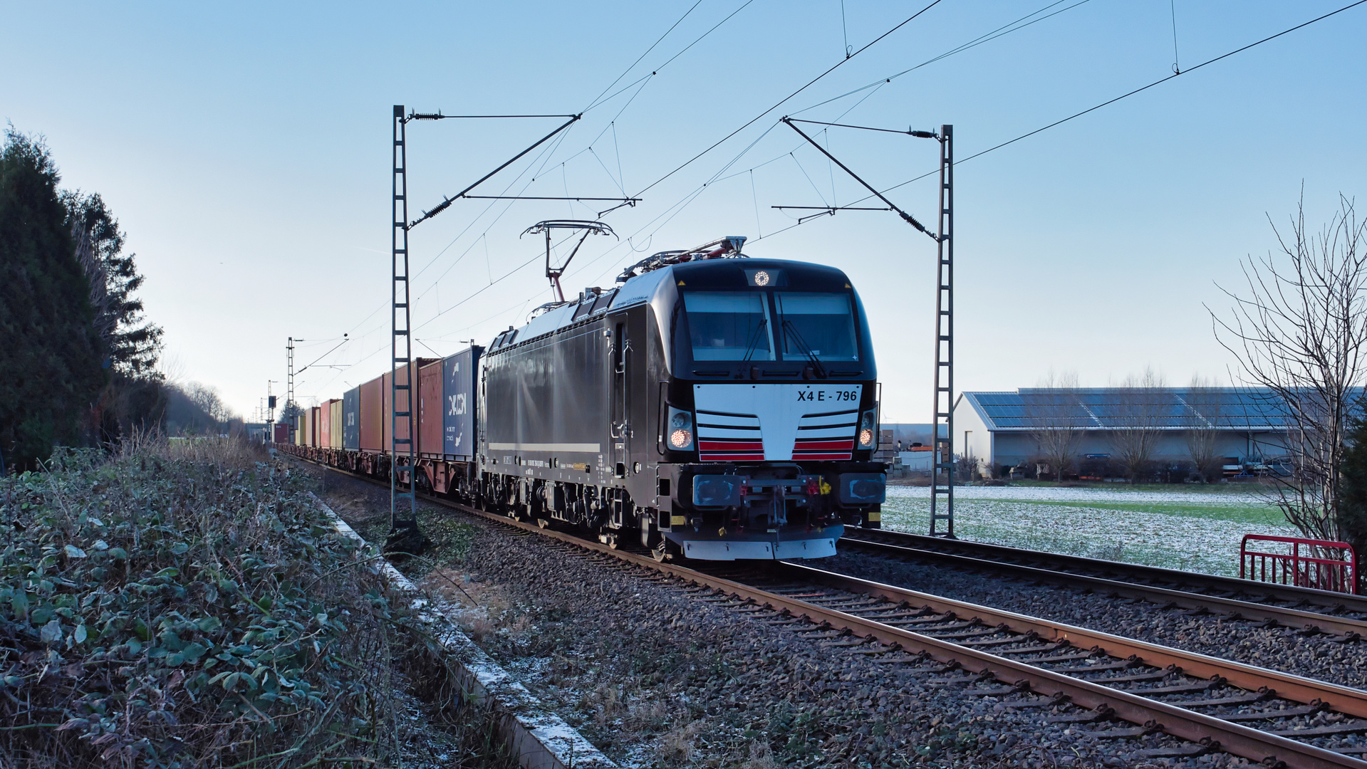
[[[764,294],[686,291],[684,309],[688,311],[694,361],[774,359],[774,346],[770,344],[772,324]]]

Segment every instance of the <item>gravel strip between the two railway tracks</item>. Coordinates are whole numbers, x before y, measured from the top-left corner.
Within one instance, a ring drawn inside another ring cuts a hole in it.
[[[966,574],[880,555],[850,552],[824,559],[817,565],[946,598],[1367,688],[1367,642],[1334,643],[1325,637],[1305,637],[1285,627],[1264,628],[1258,623],[1230,621],[1214,615],[1191,616],[1150,602],[1040,586],[1009,576]]]

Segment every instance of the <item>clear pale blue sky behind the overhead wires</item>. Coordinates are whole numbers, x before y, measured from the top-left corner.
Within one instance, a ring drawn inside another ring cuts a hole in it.
[[[385,367],[394,104],[580,112],[692,7],[614,87],[630,89],[483,190],[634,194],[841,61],[846,45],[860,49],[921,7],[846,0],[842,18],[839,0],[693,1],[5,1],[0,117],[46,135],[67,186],[105,197],[179,373],[250,415],[267,380],[284,387],[290,335],[308,340],[299,366],[343,332],[353,340],[299,377],[305,403]],[[779,232],[793,220],[772,205],[863,197],[779,116],[953,123],[968,157],[1172,74],[1174,11],[1188,68],[1346,4],[1065,0],[1018,31],[812,108],[1048,1],[942,0],[651,187],[640,206],[607,214],[622,242],[591,239],[567,291],[611,284],[644,255],[630,249],[723,235],[748,235],[755,257],[839,266],[871,316],[886,418],[928,421],[934,243],[886,212]],[[1301,183],[1308,219],[1321,223],[1340,191],[1352,197],[1367,179],[1364,31],[1367,5],[964,163],[958,388],[1029,387],[1050,369],[1077,370],[1089,385],[1146,366],[1172,384],[1225,378],[1229,358],[1203,307],[1228,306],[1215,283],[1237,288],[1239,260],[1275,246],[1266,216],[1285,221]],[[555,124],[410,124],[414,206]],[[931,141],[838,128],[820,139],[879,187],[936,164]],[[890,193],[925,221],[934,195],[934,179]],[[550,291],[540,240],[518,235],[570,216],[595,212],[461,201],[414,229],[417,337],[444,355],[524,322]]]

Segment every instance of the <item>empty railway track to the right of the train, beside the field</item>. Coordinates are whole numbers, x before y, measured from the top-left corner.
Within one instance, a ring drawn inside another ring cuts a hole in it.
[[[906,560],[950,565],[976,572],[1065,585],[1107,596],[1140,598],[1192,612],[1285,626],[1305,634],[1327,634],[1334,641],[1367,638],[1367,597],[1290,585],[1254,582],[1169,568],[1103,561],[923,537],[904,531],[848,527],[841,548]]]

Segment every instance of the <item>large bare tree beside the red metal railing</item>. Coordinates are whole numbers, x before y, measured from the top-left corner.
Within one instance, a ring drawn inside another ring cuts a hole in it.
[[[1247,294],[1221,287],[1234,305],[1226,318],[1211,311],[1215,337],[1239,359],[1243,378],[1270,389],[1286,410],[1292,469],[1274,477],[1274,501],[1321,540],[1344,537],[1340,463],[1367,373],[1367,221],[1357,221],[1351,199],[1340,195],[1338,204],[1314,234],[1303,195],[1289,238],[1273,224],[1280,253],[1248,257]]]

